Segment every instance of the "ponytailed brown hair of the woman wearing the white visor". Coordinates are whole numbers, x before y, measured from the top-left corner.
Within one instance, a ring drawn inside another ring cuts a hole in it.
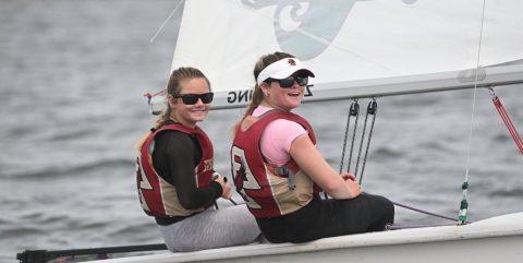
[[[259,72],[262,72],[269,64],[271,64],[271,63],[273,63],[273,62],[276,62],[280,59],[284,59],[284,58],[294,58],[294,56],[292,56],[290,53],[285,53],[285,52],[273,52],[273,53],[268,53],[268,55],[262,56],[262,58],[258,59],[258,61],[254,65],[254,70],[253,70],[254,82],[256,83],[254,85],[253,99],[251,100],[251,104],[248,105],[245,112],[243,113],[242,119],[232,127],[233,133],[236,133],[238,128],[240,127],[240,123],[242,123],[243,119],[245,119],[245,117],[251,115],[251,112],[253,112],[253,110],[256,107],[258,107],[262,104],[262,101],[264,100],[264,92],[262,91],[262,87],[259,87],[259,85],[257,84],[257,81],[256,81],[258,79]]]

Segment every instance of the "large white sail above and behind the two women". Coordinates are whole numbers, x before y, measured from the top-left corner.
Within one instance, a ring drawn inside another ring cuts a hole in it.
[[[172,69],[203,70],[221,108],[248,101],[256,60],[277,50],[315,72],[305,100],[394,83],[461,85],[476,72],[459,71],[523,59],[521,13],[515,0],[186,0]],[[508,83],[523,79],[514,67]]]

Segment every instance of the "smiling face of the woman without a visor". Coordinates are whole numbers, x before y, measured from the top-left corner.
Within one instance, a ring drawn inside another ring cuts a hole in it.
[[[180,82],[180,95],[205,94],[210,92],[209,85],[204,77],[186,79]],[[169,96],[169,105],[172,109],[171,118],[177,119],[183,125],[193,128],[196,122],[203,121],[209,112],[210,104],[204,104],[200,98],[194,105],[185,105],[182,98]]]

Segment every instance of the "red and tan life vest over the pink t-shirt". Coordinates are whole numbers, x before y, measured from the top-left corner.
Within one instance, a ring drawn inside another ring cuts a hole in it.
[[[271,110],[258,118],[247,130],[242,131],[241,125],[238,128],[231,148],[234,186],[257,218],[277,217],[297,211],[320,191],[292,158],[283,166],[291,172],[290,176],[278,172],[281,167],[275,167],[265,160],[259,147],[262,133],[277,119],[300,123],[308,131],[313,144],[316,144],[311,124],[302,117],[287,111]]]

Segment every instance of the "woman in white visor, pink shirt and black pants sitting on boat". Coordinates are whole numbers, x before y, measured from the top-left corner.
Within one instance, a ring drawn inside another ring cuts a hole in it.
[[[393,223],[393,204],[362,193],[354,176],[339,175],[316,148],[299,107],[314,73],[293,56],[275,52],[255,65],[253,100],[234,127],[231,148],[236,191],[270,242],[306,242]],[[332,199],[321,200],[319,191]]]

